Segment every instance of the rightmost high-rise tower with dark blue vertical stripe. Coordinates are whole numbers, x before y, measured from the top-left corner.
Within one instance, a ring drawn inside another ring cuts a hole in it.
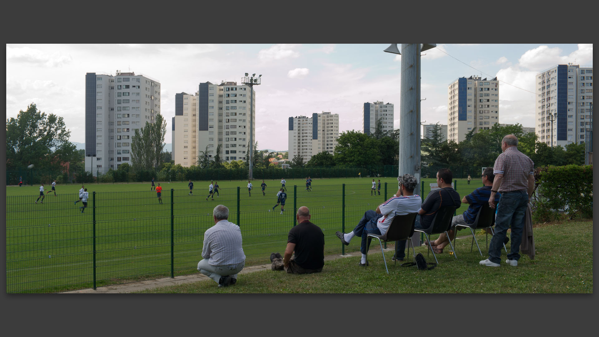
[[[585,143],[592,129],[593,68],[554,65],[537,73],[535,82],[539,142],[549,146]],[[550,116],[555,116],[553,122]]]

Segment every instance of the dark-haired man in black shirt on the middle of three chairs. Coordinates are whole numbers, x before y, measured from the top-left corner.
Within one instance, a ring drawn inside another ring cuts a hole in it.
[[[462,203],[459,200],[458,192],[451,186],[451,180],[453,179],[453,173],[449,169],[440,169],[437,171],[437,186],[439,188],[432,189],[426,196],[426,199],[422,203],[422,208],[416,215],[416,223],[414,228],[426,229],[431,226],[432,219],[435,218],[435,213],[441,207],[444,206],[455,206],[459,207]],[[437,254],[437,251],[435,251]],[[391,258],[392,261],[396,259],[402,261],[406,257],[406,240],[395,241],[395,255]]]

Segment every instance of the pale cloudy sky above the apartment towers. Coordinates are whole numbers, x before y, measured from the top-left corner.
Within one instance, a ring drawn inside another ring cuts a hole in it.
[[[365,102],[395,104],[400,128],[401,56],[389,44],[7,44],[7,118],[28,104],[64,118],[84,142],[85,74],[134,71],[161,83],[171,143],[175,94],[199,83],[262,74],[256,91],[258,149],[288,149],[288,118],[339,114],[339,131],[362,130]],[[401,45],[398,45],[401,49]],[[536,127],[535,80],[570,62],[592,66],[592,44],[443,44],[421,56],[421,122],[447,124],[447,85],[473,75],[499,84],[499,122]],[[516,88],[518,87],[518,88]],[[426,99],[426,100],[425,100]]]

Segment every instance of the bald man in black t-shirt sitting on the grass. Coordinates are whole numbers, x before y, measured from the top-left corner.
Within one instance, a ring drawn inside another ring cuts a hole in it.
[[[270,254],[273,263],[271,269],[285,269],[294,274],[321,272],[325,265],[325,234],[320,227],[310,222],[308,207],[299,207],[295,217],[298,225],[289,231],[285,257],[278,252]]]

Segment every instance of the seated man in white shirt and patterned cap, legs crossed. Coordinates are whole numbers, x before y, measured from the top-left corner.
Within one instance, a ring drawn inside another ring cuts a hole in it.
[[[358,222],[353,231],[350,233],[341,233],[337,231],[335,234],[344,245],[349,245],[349,241],[354,236],[362,237],[362,260],[358,266],[368,266],[366,261],[366,245],[367,234],[384,235],[387,233],[391,222],[396,215],[406,215],[408,213],[416,213],[420,209],[420,195],[414,194],[414,189],[418,185],[418,180],[412,174],[404,174],[397,178],[399,189],[392,198],[380,204],[376,211],[367,210],[362,219]],[[373,180],[374,182],[374,180]],[[405,241],[404,241],[405,242]]]

